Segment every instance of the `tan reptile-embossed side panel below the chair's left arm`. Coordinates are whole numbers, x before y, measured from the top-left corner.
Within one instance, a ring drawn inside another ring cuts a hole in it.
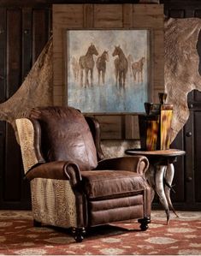
[[[35,178],[31,193],[35,220],[63,228],[77,226],[75,197],[68,181]]]

